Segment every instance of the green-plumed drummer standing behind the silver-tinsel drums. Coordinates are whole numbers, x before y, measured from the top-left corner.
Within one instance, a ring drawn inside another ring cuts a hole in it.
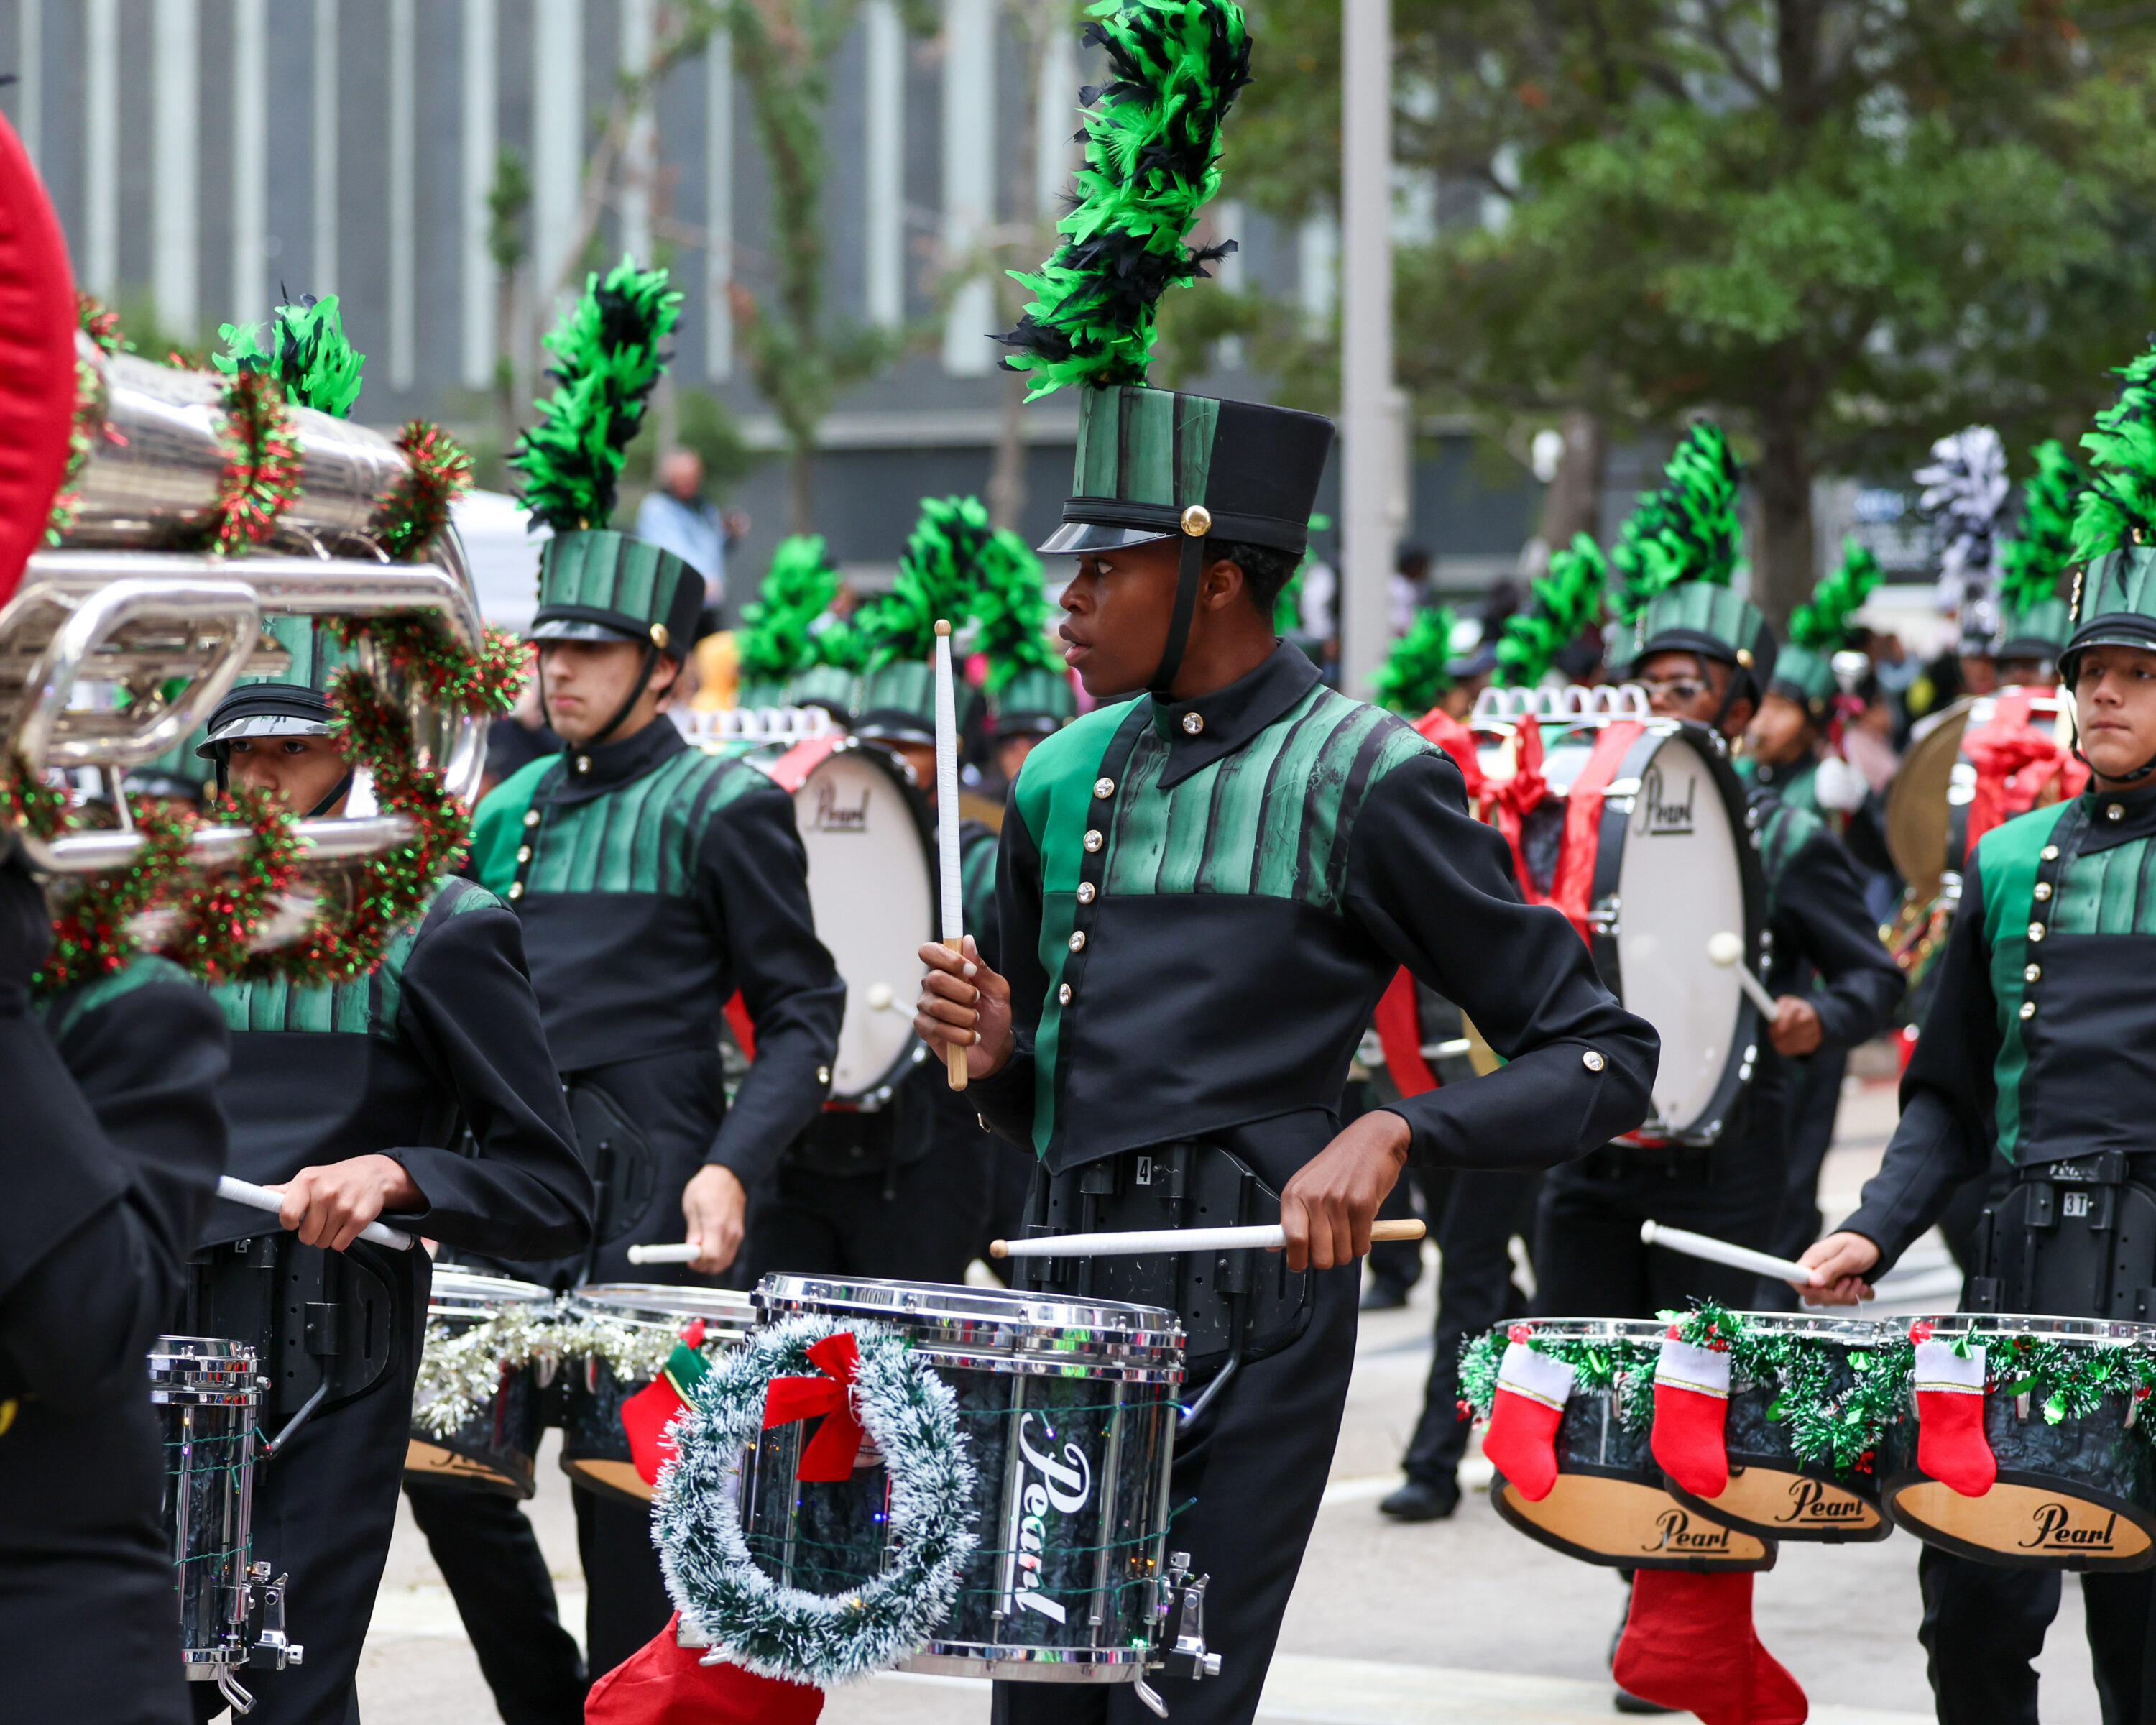
[[[623,263],[593,276],[550,336],[567,382],[513,459],[535,522],[554,528],[530,638],[545,722],[565,746],[502,781],[472,832],[472,873],[524,923],[571,1113],[606,1128],[599,1233],[580,1266],[597,1281],[660,1279],[630,1270],[630,1244],[696,1242],[688,1268],[701,1276],[733,1266],[748,1190],[824,1102],[845,1005],[815,938],[793,800],[746,761],[692,748],[662,712],[703,576],[606,530],[627,438],[608,442],[589,416],[619,429],[642,395],[621,403],[573,382],[604,367],[649,390],[679,298],[664,270]],[[729,1104],[718,1037],[735,992],[757,1054]],[[673,1604],[649,1512],[576,1492],[576,1522],[597,1675]]]

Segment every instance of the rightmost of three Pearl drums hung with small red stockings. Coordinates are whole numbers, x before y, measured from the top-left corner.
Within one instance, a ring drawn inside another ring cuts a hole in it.
[[[2024,1376],[2009,1348],[2050,1343],[2093,1358],[2106,1348],[2156,1348],[2156,1324],[2093,1317],[1955,1313],[1923,1320],[1938,1341],[1973,1335],[1986,1346],[1984,1436],[1999,1479],[1962,1496],[1917,1466],[1917,1421],[1895,1427],[1884,1479],[1887,1514],[1925,1544],[2009,1570],[2147,1570],[2156,1565],[2156,1445],[2139,1430],[2132,1382],[2087,1414],[2053,1421],[2042,1380],[2027,1395],[2001,1384]]]

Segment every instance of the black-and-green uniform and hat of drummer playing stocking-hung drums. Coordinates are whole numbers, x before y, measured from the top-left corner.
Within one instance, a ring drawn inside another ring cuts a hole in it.
[[[2093,561],[2074,619],[2059,658],[2068,690],[2087,647],[2156,651],[2156,552]],[[1986,1212],[1964,1305],[2156,1320],[2156,785],[2137,778],[2124,791],[2091,785],[1977,841],[1902,1078],[1902,1123],[1841,1223],[1880,1248],[1871,1276],[1984,1179],[1996,1151],[2012,1175]],[[2059,1572],[1925,1546],[1919,1574],[1940,1721],[2035,1725],[2031,1660],[2059,1611]],[[2106,1725],[2145,1721],[2156,1701],[2152,1581],[2150,1570],[2081,1578]]]

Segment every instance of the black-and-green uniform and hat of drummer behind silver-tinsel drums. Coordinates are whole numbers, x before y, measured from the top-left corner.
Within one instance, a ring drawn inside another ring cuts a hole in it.
[[[688,651],[701,604],[703,576],[671,552],[621,533],[558,533],[533,638],[642,643],[649,675],[658,653]],[[556,1283],[668,1279],[632,1272],[627,1246],[686,1236],[681,1188],[707,1162],[748,1192],[770,1177],[824,1100],[845,1005],[815,938],[793,800],[746,761],[692,748],[664,716],[612,737],[619,722],[498,785],[472,839],[472,871],[524,923],[545,1037],[599,1184],[593,1251],[541,1274]],[[729,1104],[718,1044],[735,990],[757,1057]],[[645,1509],[580,1490],[576,1518],[597,1675],[658,1634],[673,1602]],[[522,1516],[498,1535],[517,1563],[535,1561]]]

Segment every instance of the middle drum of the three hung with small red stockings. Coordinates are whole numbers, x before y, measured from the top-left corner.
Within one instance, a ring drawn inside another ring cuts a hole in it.
[[[1878,1358],[1882,1346],[1895,1346],[1897,1324],[1869,1317],[1798,1317],[1779,1311],[1738,1311],[1731,1317],[1744,1330],[1774,1337],[1802,1348],[1815,1374],[1792,1389],[1779,1378],[1749,1376],[1738,1363],[1729,1374],[1729,1486],[1720,1496],[1695,1496],[1664,1477],[1677,1503],[1705,1512],[1740,1533],[1766,1540],[1807,1540],[1843,1544],[1852,1540],[1884,1540],[1893,1522],[1880,1509],[1878,1464],[1835,1466],[1805,1462],[1789,1440],[1787,1417],[1774,1417],[1774,1404],[1792,1393],[1843,1397],[1861,1367]],[[1878,1458],[1884,1462],[1884,1455]]]

